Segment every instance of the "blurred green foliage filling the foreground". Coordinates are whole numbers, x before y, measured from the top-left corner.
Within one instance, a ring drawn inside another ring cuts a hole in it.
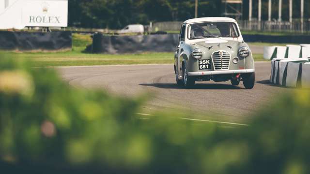
[[[70,87],[54,70],[0,56],[1,172],[310,173],[309,90],[234,129],[177,112],[139,119],[142,102]]]

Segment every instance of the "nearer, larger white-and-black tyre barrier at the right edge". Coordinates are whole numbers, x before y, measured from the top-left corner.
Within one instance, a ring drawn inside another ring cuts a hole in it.
[[[275,85],[285,87],[310,87],[309,59],[272,59],[269,81]]]

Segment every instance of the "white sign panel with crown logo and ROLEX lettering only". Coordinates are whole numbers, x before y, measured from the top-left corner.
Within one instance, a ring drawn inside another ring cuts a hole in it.
[[[27,27],[67,27],[67,0],[29,0],[22,8],[22,22]]]

